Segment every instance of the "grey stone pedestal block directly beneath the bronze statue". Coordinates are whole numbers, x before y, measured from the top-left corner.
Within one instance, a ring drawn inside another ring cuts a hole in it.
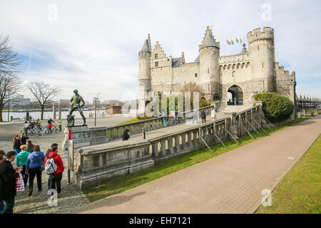
[[[91,130],[87,125],[66,126],[63,131],[65,138],[62,142],[64,152],[68,152],[68,130],[71,130],[71,140],[77,147],[91,145]]]

